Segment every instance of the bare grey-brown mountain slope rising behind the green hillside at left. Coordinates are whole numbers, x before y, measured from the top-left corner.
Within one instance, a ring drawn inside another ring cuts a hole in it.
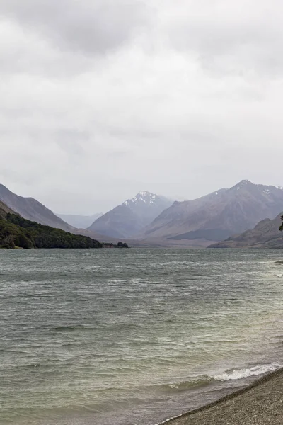
[[[57,215],[46,208],[45,205],[38,202],[38,200],[18,196],[16,193],[9,191],[3,184],[0,184],[0,200],[26,220],[40,223],[40,225],[62,229],[66,232],[74,230],[74,227],[57,217]]]

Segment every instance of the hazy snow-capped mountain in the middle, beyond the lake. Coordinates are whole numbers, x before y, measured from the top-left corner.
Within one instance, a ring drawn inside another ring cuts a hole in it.
[[[91,232],[105,234],[108,237],[127,238],[149,225],[164,209],[172,204],[164,196],[141,191],[134,198],[106,212],[88,227]]]

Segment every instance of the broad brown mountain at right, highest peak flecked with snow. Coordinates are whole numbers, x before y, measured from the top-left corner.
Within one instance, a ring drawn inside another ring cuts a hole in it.
[[[243,180],[232,188],[223,188],[202,198],[173,203],[146,227],[143,238],[168,243],[187,240],[188,245],[200,240],[207,246],[209,241],[219,242],[245,232],[282,210],[282,188]]]

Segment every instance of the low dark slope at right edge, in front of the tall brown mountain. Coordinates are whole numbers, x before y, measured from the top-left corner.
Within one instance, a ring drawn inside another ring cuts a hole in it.
[[[209,248],[283,248],[283,232],[279,231],[282,213],[274,220],[260,221],[253,229],[234,234]]]

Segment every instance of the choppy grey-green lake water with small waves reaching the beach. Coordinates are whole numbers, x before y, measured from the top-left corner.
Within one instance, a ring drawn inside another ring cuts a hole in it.
[[[283,365],[283,251],[0,251],[0,424],[156,424]]]

